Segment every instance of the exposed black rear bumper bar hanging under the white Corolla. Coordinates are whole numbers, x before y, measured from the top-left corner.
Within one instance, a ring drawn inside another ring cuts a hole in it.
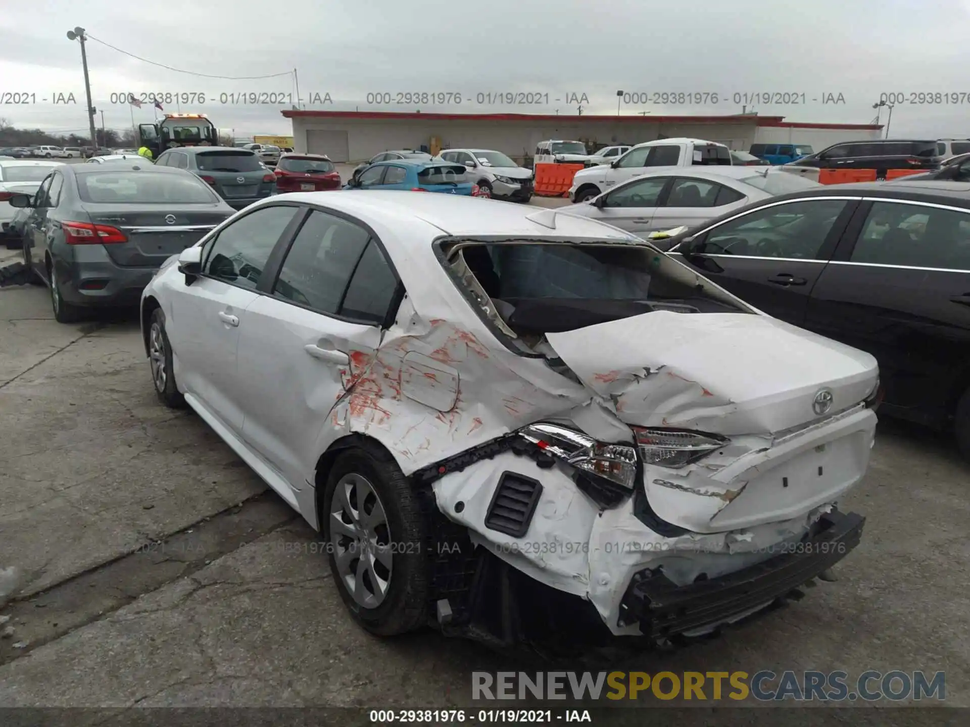
[[[816,522],[802,542],[779,548],[766,560],[733,573],[676,585],[663,568],[633,575],[620,605],[617,625],[638,623],[655,640],[692,636],[749,616],[817,577],[859,543],[865,518],[832,511]]]

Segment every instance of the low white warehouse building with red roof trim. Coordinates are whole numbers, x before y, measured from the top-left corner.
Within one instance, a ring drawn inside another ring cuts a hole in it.
[[[335,162],[364,161],[387,149],[432,149],[437,144],[439,148],[498,149],[521,159],[547,139],[605,146],[691,137],[744,151],[756,142],[807,143],[818,151],[836,142],[880,139],[883,129],[875,124],[814,124],[755,114],[566,116],[296,110],[282,114],[293,122],[296,151],[327,154]]]

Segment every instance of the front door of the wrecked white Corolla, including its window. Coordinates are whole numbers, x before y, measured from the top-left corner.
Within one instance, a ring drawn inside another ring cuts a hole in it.
[[[206,244],[203,275],[174,283],[167,327],[176,375],[187,395],[236,436],[242,436],[249,395],[236,370],[246,308],[260,297],[258,286],[277,240],[288,238],[303,207],[263,206],[223,228]]]

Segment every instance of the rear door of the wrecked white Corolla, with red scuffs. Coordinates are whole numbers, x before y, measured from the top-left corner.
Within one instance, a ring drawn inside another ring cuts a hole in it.
[[[314,209],[267,284],[271,295],[246,310],[240,338],[243,433],[293,490],[301,490],[336,436],[331,409],[348,388],[358,381],[367,387],[371,403],[356,413],[383,422],[376,396],[391,385],[377,375],[360,379],[400,300],[398,281],[366,226]]]

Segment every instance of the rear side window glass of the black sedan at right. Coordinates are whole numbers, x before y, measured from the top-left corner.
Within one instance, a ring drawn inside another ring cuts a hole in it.
[[[907,268],[970,270],[970,214],[877,202],[850,260]]]

